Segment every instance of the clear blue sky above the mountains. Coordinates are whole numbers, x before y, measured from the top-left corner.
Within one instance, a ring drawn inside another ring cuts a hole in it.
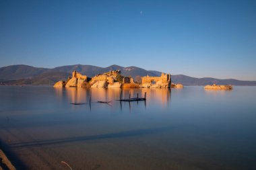
[[[256,1],[0,0],[0,67],[76,64],[256,81]]]

